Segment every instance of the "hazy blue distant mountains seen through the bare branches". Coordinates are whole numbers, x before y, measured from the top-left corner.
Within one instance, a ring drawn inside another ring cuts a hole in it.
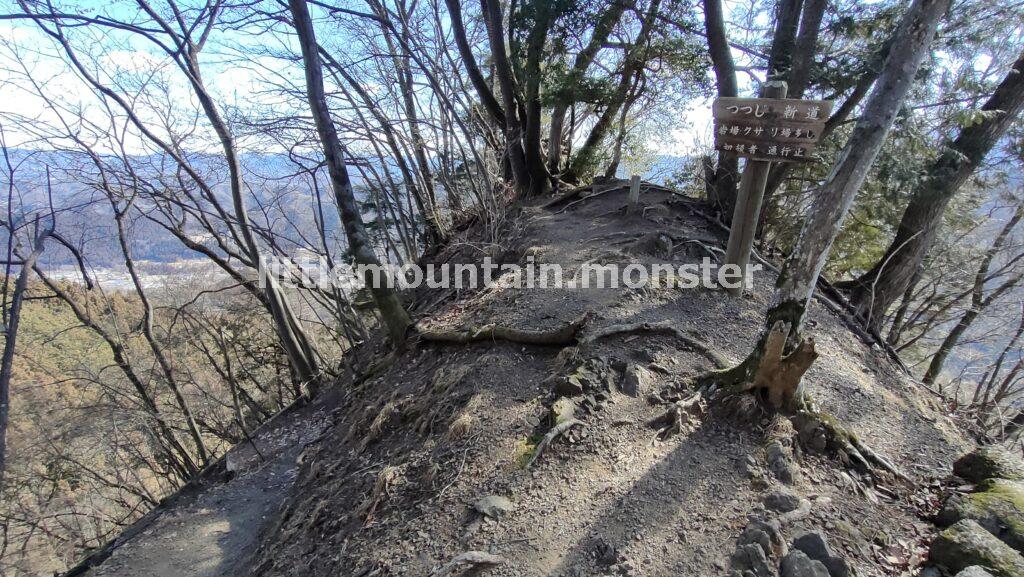
[[[46,211],[49,204],[47,195],[47,167],[52,189],[52,204],[58,211],[58,230],[72,242],[84,247],[90,266],[97,269],[120,267],[123,264],[121,249],[117,243],[117,233],[112,208],[104,194],[97,184],[99,173],[91,160],[83,154],[59,151],[9,151],[11,164],[14,166],[14,181],[17,198],[14,201],[15,218],[17,214],[33,211]],[[104,159],[116,163],[116,159]],[[226,168],[221,157],[216,155],[190,155],[189,161],[196,170],[203,174],[214,190],[218,202],[230,210],[230,197],[227,189]],[[303,239],[313,240],[310,235],[316,230],[315,206],[310,193],[308,177],[302,167],[297,165],[287,155],[283,154],[246,154],[243,155],[243,168],[250,184],[250,215],[257,222],[272,222],[279,235],[282,235],[293,246],[301,246]],[[685,157],[659,156],[653,162],[646,163],[643,172],[645,179],[664,181],[667,177],[683,169]],[[366,161],[360,161],[366,162]],[[308,163],[311,164],[311,163]],[[171,168],[174,163],[160,155],[135,157],[133,167],[140,179],[148,183],[161,178],[173,177]],[[375,168],[379,168],[375,167]],[[621,176],[628,176],[637,170],[624,162],[620,168]],[[4,166],[3,179],[6,180],[7,169]],[[358,170],[350,169],[356,194],[364,189]],[[333,248],[343,246],[339,242],[340,235],[337,212],[333,197],[326,182],[321,182],[324,217],[329,242]],[[177,186],[177,183],[175,183]],[[6,198],[0,199],[6,205]],[[153,213],[156,208],[145,202],[138,205],[143,212]],[[204,231],[195,228],[195,238],[208,236]],[[204,258],[187,249],[170,233],[153,220],[142,215],[135,215],[131,222],[132,255],[140,261],[148,261],[151,265],[159,263],[174,263],[183,260]],[[43,262],[48,267],[67,267],[74,264],[71,254],[59,247],[54,247],[44,254]]]

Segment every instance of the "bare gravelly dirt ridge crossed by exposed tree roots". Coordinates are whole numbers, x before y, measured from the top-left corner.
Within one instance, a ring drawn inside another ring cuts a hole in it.
[[[508,245],[469,235],[439,260],[532,257],[571,274],[584,262],[698,262],[724,244],[694,212],[698,204],[660,190],[645,191],[642,213],[626,215],[625,202],[620,191],[526,206],[506,224],[506,235],[516,232]],[[658,231],[673,241],[649,235]],[[736,360],[758,335],[773,282],[760,273],[742,299],[669,288],[418,293],[431,327],[552,329],[589,313],[588,323],[583,342],[570,347],[414,342],[372,377],[339,383],[346,401],[304,451],[251,571],[439,575],[446,562],[476,550],[503,558],[490,575],[725,575],[750,518],[773,514],[765,498],[772,504],[792,493],[811,507],[785,518],[787,539],[820,530],[859,575],[909,574],[934,532],[922,520],[934,498],[921,487],[945,478],[970,444],[927,393],[835,315],[811,308],[808,331],[821,357],[806,377],[809,389],[912,485],[874,483],[835,455],[807,453],[787,420],[751,407],[712,411],[662,438],[648,421],[687,376],[712,368],[709,356],[666,331],[588,341],[612,325],[669,321]],[[567,384],[559,378],[570,373]],[[625,384],[632,395],[623,393],[625,373],[635,376]],[[572,402],[571,415],[564,401],[555,403],[560,396]],[[552,405],[583,426],[527,466],[553,424]],[[778,493],[785,482],[792,486]],[[478,503],[484,497],[501,498]]]

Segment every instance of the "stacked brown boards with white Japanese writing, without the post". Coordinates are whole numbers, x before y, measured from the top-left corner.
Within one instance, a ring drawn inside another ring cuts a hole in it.
[[[831,100],[717,98],[715,149],[754,160],[814,162],[831,107]]]

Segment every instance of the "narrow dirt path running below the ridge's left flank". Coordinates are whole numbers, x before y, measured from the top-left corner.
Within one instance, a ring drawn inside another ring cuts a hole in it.
[[[117,546],[89,577],[232,577],[246,564],[261,529],[295,483],[296,460],[324,426],[313,407],[272,422],[249,444],[234,447],[237,472],[224,484],[199,491],[143,520],[134,537]]]

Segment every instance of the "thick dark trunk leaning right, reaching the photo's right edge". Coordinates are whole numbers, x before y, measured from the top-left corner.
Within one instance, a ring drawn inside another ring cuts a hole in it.
[[[990,113],[964,128],[913,191],[896,237],[882,259],[858,279],[844,283],[858,317],[878,330],[886,312],[906,290],[931,248],[946,206],[1024,109],[1024,54],[982,107]]]

